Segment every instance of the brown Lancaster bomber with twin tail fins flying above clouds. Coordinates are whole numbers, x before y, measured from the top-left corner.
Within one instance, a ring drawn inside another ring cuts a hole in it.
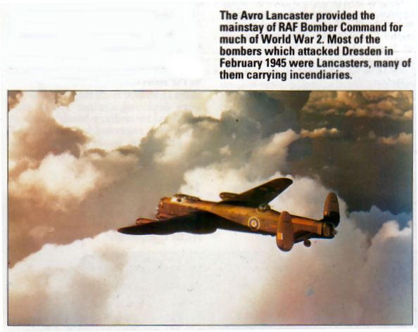
[[[340,222],[338,199],[329,193],[324,217],[319,220],[272,210],[268,203],[293,181],[274,179],[243,193],[220,193],[219,202],[201,200],[177,193],[160,199],[156,219],[138,218],[134,226],[118,229],[123,234],[167,235],[177,232],[210,234],[217,229],[276,236],[280,250],[289,251],[294,243],[310,247],[310,238],[334,238]]]

